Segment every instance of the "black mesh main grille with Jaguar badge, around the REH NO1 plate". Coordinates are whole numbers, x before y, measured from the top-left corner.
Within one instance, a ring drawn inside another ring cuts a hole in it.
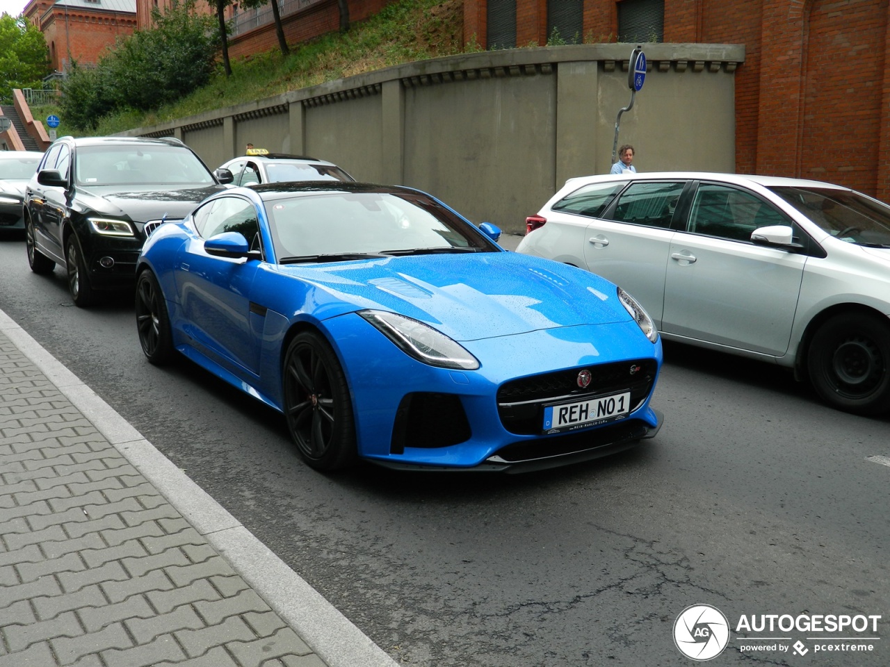
[[[590,383],[579,387],[578,374],[585,370]],[[498,414],[511,433],[533,435],[542,430],[545,405],[625,390],[633,412],[649,396],[657,373],[655,359],[636,359],[511,380],[498,389]]]

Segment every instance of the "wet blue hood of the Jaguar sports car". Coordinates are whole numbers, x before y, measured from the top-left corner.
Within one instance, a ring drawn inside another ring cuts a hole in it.
[[[279,269],[312,283],[320,305],[328,301],[317,309],[320,317],[392,310],[456,341],[630,319],[609,281],[516,253],[419,255]]]

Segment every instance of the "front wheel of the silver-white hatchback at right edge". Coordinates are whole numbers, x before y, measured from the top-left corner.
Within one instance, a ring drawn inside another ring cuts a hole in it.
[[[831,317],[807,354],[810,381],[831,406],[854,414],[890,410],[890,323],[866,313]]]

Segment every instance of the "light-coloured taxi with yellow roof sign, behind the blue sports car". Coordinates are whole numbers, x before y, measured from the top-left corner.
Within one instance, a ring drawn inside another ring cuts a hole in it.
[[[264,151],[232,158],[219,166],[217,175],[220,169],[231,171],[232,185],[236,186],[285,181],[355,181],[343,169],[326,160]]]

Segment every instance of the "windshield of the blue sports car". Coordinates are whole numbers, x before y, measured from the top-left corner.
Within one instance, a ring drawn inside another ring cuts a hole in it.
[[[419,193],[288,194],[267,199],[265,208],[281,263],[498,251],[478,230]]]

